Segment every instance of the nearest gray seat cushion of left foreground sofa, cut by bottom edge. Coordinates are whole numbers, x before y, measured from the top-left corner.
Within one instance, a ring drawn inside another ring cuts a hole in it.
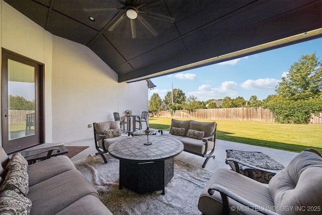
[[[89,207],[88,205],[95,205],[93,207]],[[62,214],[84,214],[86,211],[87,214],[95,214],[95,215],[112,215],[113,213],[95,196],[86,195],[74,203],[68,205],[56,215]]]

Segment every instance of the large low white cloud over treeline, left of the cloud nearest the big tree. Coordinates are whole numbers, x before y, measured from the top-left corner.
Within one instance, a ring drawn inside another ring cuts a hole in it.
[[[198,97],[199,101],[206,101],[208,99],[220,99],[226,96],[234,97],[237,95],[237,83],[227,81],[221,83],[221,86],[212,88],[210,85],[201,85],[198,91],[189,92],[189,95]]]

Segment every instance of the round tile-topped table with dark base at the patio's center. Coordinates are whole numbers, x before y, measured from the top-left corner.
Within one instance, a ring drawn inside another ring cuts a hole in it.
[[[174,176],[174,157],[182,153],[181,141],[160,135],[133,136],[113,142],[109,154],[120,160],[119,189],[137,192],[162,190]]]

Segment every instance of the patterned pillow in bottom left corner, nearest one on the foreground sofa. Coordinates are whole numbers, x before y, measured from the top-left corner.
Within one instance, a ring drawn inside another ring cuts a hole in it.
[[[0,214],[21,214],[30,213],[31,200],[19,195],[12,190],[5,190],[0,194]]]

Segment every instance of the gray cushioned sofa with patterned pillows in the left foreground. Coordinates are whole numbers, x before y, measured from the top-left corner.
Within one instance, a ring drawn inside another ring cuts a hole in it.
[[[67,156],[28,165],[0,147],[0,213],[112,214]]]

